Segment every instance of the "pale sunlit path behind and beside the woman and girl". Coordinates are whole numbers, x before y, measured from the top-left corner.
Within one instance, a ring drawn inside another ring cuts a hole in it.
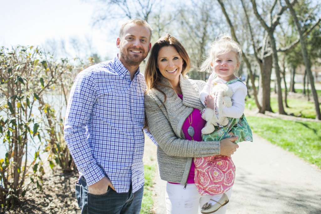
[[[254,142],[239,143],[232,156],[236,179],[227,214],[321,214],[321,170],[256,134],[253,137]],[[146,145],[155,152],[149,154],[156,155],[156,146]],[[165,185],[157,174],[155,214],[166,213]]]

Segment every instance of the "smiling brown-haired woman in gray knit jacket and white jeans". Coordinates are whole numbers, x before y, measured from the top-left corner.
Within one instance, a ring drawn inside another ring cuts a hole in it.
[[[154,44],[145,68],[145,112],[157,146],[160,178],[166,185],[167,213],[196,214],[210,196],[197,192],[193,157],[233,154],[237,137],[202,141],[204,106],[199,93],[204,81],[190,80],[190,59],[183,45],[170,34]],[[231,191],[229,193],[231,194]],[[226,210],[226,206],[223,209]],[[225,213],[220,209],[216,213]]]

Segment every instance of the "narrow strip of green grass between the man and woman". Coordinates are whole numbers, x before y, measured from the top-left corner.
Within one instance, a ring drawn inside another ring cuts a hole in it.
[[[142,201],[142,209],[140,214],[152,214],[153,209],[153,198],[152,198],[152,186],[153,179],[155,177],[156,166],[155,165],[144,165],[144,175],[145,175],[145,184],[144,184],[144,194]]]

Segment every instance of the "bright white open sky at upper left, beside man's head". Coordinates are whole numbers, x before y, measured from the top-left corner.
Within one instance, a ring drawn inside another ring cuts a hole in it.
[[[0,46],[45,47],[50,40],[57,42],[77,37],[89,38],[92,49],[102,58],[114,56],[117,33],[106,35],[93,27],[95,5],[83,0],[0,0]],[[107,30],[108,32],[108,30]]]

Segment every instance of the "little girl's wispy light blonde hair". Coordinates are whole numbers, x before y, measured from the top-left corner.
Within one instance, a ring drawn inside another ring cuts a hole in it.
[[[211,43],[210,48],[208,50],[209,56],[200,65],[199,71],[207,71],[208,73],[212,73],[213,67],[211,63],[216,58],[216,56],[220,54],[226,54],[230,51],[235,52],[237,63],[239,63],[242,56],[242,47],[230,36],[221,34],[215,39],[215,41]],[[237,70],[238,69],[235,70],[235,73],[237,73]]]

